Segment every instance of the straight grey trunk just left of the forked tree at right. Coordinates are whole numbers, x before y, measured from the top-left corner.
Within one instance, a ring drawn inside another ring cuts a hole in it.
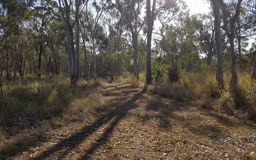
[[[224,86],[223,82],[223,48],[222,48],[222,37],[220,29],[220,4],[216,0],[212,0],[213,13],[215,19],[215,45],[217,49],[217,72],[216,80],[218,86]]]

